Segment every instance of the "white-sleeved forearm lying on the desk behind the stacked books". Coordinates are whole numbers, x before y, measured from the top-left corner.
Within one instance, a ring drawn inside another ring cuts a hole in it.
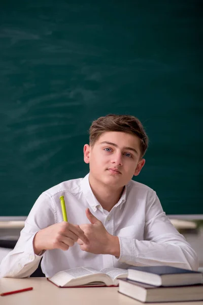
[[[171,265],[198,269],[198,258],[187,242],[161,242],[119,238],[119,261],[129,265]]]

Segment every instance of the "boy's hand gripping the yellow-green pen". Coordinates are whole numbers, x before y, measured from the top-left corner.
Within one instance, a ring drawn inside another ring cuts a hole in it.
[[[33,249],[37,255],[43,250],[61,249],[65,251],[72,247],[78,238],[82,239],[84,243],[89,243],[85,233],[78,225],[63,221],[37,232],[33,238]]]

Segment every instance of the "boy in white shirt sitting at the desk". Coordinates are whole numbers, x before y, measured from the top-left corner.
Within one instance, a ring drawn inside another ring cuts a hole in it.
[[[145,164],[148,137],[129,115],[93,121],[84,161],[89,174],[64,181],[33,205],[2,277],[31,275],[42,259],[46,277],[78,266],[171,265],[197,270],[198,259],[165,216],[156,193],[131,180]],[[67,218],[62,221],[60,196]]]

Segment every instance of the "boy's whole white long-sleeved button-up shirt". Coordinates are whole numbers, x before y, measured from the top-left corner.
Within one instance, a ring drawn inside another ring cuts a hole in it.
[[[46,277],[79,266],[98,270],[127,268],[129,265],[171,265],[197,270],[195,252],[166,217],[152,189],[130,180],[118,203],[108,212],[93,195],[88,176],[64,181],[41,194],[25,221],[14,250],[1,263],[1,277],[30,276],[42,256],[41,266]],[[67,251],[47,250],[42,256],[34,253],[32,240],[35,234],[63,220],[60,196],[64,196],[70,223],[89,223],[85,214],[85,208],[89,207],[107,231],[119,237],[119,258],[82,251],[77,242]]]

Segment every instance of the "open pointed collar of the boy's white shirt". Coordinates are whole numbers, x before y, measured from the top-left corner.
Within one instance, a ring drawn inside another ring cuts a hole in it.
[[[81,182],[81,189],[83,194],[86,197],[86,200],[89,204],[89,206],[92,208],[93,211],[96,211],[98,206],[101,206],[96,197],[94,196],[92,189],[89,184],[89,173],[82,179]],[[126,201],[126,191],[127,187],[124,187],[123,193],[119,201],[115,204],[115,206],[119,206],[121,209],[123,203]]]

